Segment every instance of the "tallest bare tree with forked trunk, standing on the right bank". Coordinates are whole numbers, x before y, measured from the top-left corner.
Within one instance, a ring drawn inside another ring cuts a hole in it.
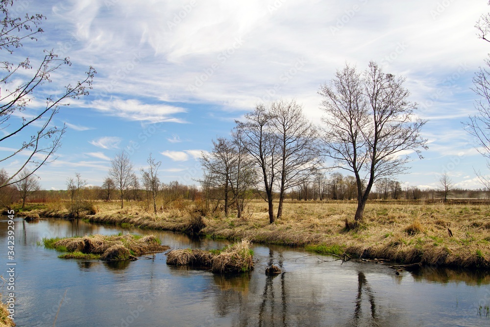
[[[373,183],[405,173],[407,151],[421,158],[420,148],[427,149],[427,140],[420,135],[427,121],[414,117],[417,107],[408,100],[410,92],[403,82],[370,62],[364,74],[346,65],[330,84],[320,87],[327,114],[322,119],[325,155],[356,177],[356,222],[363,219]]]

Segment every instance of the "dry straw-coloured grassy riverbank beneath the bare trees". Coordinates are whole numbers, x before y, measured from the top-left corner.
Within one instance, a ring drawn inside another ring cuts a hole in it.
[[[416,263],[490,268],[490,207],[487,205],[368,203],[365,220],[356,230],[345,230],[352,220],[353,202],[286,202],[284,215],[269,224],[267,206],[250,204],[245,218],[209,214],[202,219],[189,207],[158,215],[137,203],[100,203],[91,222],[140,228],[187,231],[198,219],[200,233],[230,240],[307,247],[311,251],[363,258]],[[33,212],[42,214],[41,212]],[[451,231],[451,234],[449,233]],[[452,236],[451,236],[452,235]]]

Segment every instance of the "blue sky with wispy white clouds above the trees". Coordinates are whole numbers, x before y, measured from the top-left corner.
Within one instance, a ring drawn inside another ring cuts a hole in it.
[[[406,78],[417,117],[429,120],[429,149],[398,180],[437,188],[447,173],[456,187],[480,188],[474,171],[488,170],[462,124],[476,113],[472,78],[490,52],[474,27],[486,0],[24,0],[12,10],[46,20],[37,42],[9,59],[36,63],[45,49],[70,57],[45,91],[97,70],[90,95],[54,118],[67,131],[58,158],[38,171],[45,189],[66,189],[75,173],[101,185],[122,149],[138,176],[152,153],[163,182],[197,184],[201,152],[258,103],[294,98],[320,123],[320,85],[370,60]]]

